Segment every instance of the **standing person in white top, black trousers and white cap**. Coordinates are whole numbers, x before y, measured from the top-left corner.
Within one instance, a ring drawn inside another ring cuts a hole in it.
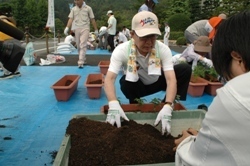
[[[114,49],[115,49],[115,44],[114,44],[114,37],[115,37],[115,33],[116,33],[116,24],[117,24],[117,21],[116,21],[116,18],[113,14],[113,11],[112,10],[109,10],[107,12],[107,16],[109,17],[108,19],[108,27],[107,27],[107,30],[108,30],[108,44],[110,46],[110,52],[113,52]]]

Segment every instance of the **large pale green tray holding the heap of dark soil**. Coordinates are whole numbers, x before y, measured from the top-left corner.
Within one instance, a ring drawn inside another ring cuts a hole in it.
[[[188,128],[194,128],[199,130],[201,128],[202,120],[205,117],[204,110],[189,110],[189,111],[178,111],[172,113],[171,121],[171,134],[173,136],[178,136],[182,133],[183,130]],[[129,119],[135,120],[137,123],[141,124],[154,124],[154,121],[158,113],[126,113]],[[75,115],[73,118],[82,118],[86,117],[91,120],[96,121],[105,121],[105,114],[95,114],[95,115]],[[158,130],[161,128],[161,123],[158,125]],[[70,135],[65,135],[61,143],[60,149],[56,155],[53,166],[67,166],[69,160],[69,150],[71,147]],[[145,165],[154,165],[154,166],[174,166],[175,163],[158,163],[158,164],[145,164]],[[140,165],[142,166],[142,165]]]

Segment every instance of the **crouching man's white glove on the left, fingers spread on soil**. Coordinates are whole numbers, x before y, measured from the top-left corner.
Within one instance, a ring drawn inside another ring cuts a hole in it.
[[[117,127],[121,127],[121,117],[129,121],[119,102],[117,100],[110,101],[106,122],[110,123],[111,125],[116,123]]]

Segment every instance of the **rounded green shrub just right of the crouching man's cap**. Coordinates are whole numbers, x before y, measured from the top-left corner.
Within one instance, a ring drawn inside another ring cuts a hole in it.
[[[191,24],[191,19],[187,17],[185,14],[175,14],[168,19],[168,24],[171,31],[182,31]]]

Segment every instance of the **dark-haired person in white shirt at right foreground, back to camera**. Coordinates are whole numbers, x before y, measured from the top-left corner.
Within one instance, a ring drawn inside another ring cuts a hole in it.
[[[183,131],[175,140],[176,166],[249,165],[250,156],[250,12],[221,23],[212,61],[226,84],[217,90],[199,132]]]

